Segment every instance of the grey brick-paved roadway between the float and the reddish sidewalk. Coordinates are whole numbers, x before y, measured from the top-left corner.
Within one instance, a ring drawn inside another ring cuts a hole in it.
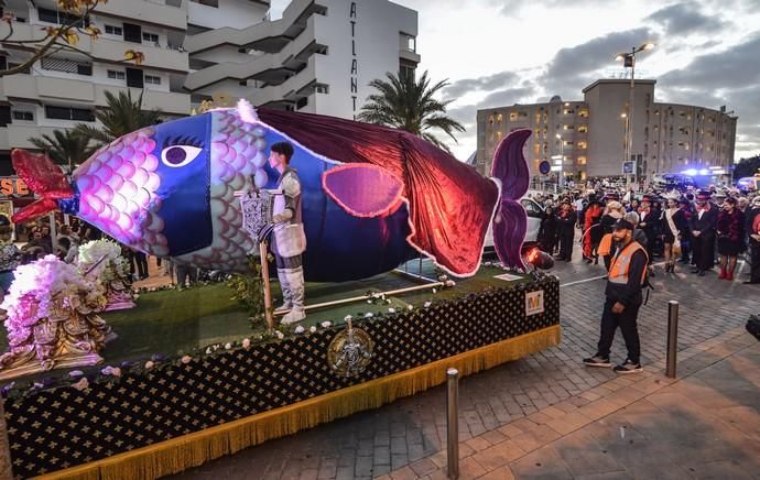
[[[746,265],[742,263],[740,269],[746,270]],[[560,262],[553,273],[563,285],[562,343],[462,380],[463,445],[476,438],[499,437],[500,428],[519,425],[524,417],[550,406],[577,410],[596,401],[594,395],[601,396],[595,389],[604,385],[611,390],[610,385],[628,382],[617,380],[610,369],[586,369],[579,364],[583,357],[596,351],[605,288],[605,281],[598,277],[604,274],[604,266]],[[757,285],[721,281],[714,272],[697,277],[681,266],[675,275],[664,275],[659,268],[653,280],[655,291],[639,313],[647,375],[653,374],[665,357],[670,299],[681,303],[680,360],[698,349],[720,349],[736,336],[748,336],[741,327],[760,306]],[[726,337],[727,334],[734,337]],[[619,334],[612,358],[625,359]],[[686,368],[687,364],[680,366],[680,375],[685,374]],[[445,418],[445,385],[441,385],[381,408],[267,441],[175,478],[367,480],[436,458],[446,448]],[[462,452],[466,452],[466,447]]]

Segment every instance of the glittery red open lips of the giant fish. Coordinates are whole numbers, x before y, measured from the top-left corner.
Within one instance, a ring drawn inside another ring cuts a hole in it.
[[[61,167],[45,154],[34,154],[14,149],[11,152],[13,168],[26,186],[41,198],[13,215],[13,222],[42,217],[57,208],[56,200],[74,197],[74,188]]]

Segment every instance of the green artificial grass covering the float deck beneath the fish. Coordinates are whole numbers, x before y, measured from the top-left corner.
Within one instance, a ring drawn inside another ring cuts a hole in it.
[[[419,273],[416,260],[408,264],[409,271]],[[435,277],[435,269],[430,261],[422,262],[422,273]],[[301,325],[308,328],[325,320],[334,325],[344,323],[346,315],[365,316],[367,313],[388,314],[389,308],[401,312],[409,305],[423,307],[426,302],[453,299],[469,293],[481,292],[487,287],[503,287],[513,282],[495,279],[506,273],[493,266],[484,266],[473,277],[456,281],[450,288],[410,292],[389,297],[390,304],[368,304],[356,302],[318,310],[310,310]],[[522,276],[517,282],[526,282]],[[367,292],[387,292],[417,285],[398,273],[389,272],[371,279],[345,283],[307,283],[306,303],[316,304],[339,298],[360,296]],[[275,306],[281,303],[280,287],[274,282],[272,294]],[[224,283],[197,286],[184,291],[166,290],[140,295],[138,306],[128,310],[101,314],[118,338],[108,342],[100,352],[106,364],[118,364],[126,360],[145,360],[153,354],[169,358],[191,353],[214,343],[240,341],[257,338],[265,331],[262,324],[253,326],[249,313],[231,298],[232,291]],[[8,341],[4,329],[0,329],[0,351],[6,351]]]

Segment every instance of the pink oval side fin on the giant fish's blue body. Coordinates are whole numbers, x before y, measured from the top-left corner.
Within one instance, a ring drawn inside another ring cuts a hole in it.
[[[367,188],[367,186],[371,186]],[[322,186],[344,210],[355,217],[380,217],[401,205],[403,183],[382,167],[347,163],[322,174]]]

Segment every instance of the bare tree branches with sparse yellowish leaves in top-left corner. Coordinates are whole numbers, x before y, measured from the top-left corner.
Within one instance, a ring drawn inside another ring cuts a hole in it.
[[[31,51],[31,56],[19,65],[10,68],[0,68],[0,77],[26,72],[35,62],[61,51],[76,52],[94,58],[89,52],[78,48],[80,35],[89,36],[93,41],[100,36],[100,29],[88,25],[89,14],[100,3],[107,0],[57,0],[58,26],[45,26],[40,34],[25,37],[15,32],[15,18],[12,13],[6,13],[0,19],[0,43],[3,47]],[[0,0],[0,7],[6,7],[6,1]],[[3,23],[7,25],[3,25]],[[145,55],[142,52],[128,50],[123,61],[142,64]]]

